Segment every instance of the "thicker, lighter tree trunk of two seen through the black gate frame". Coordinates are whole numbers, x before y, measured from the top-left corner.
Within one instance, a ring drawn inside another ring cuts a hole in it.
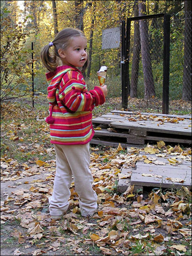
[[[139,16],[146,14],[145,0],[139,2]],[[155,86],[152,73],[149,36],[148,36],[148,24],[146,20],[139,21],[140,38],[141,38],[141,54],[144,73],[144,98],[148,99],[155,96]]]

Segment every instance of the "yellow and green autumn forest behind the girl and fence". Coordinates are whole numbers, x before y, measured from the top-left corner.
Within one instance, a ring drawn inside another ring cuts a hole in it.
[[[96,72],[101,65],[106,65],[108,66],[106,83],[110,86],[108,97],[121,97],[120,46],[114,49],[102,49],[102,31],[120,27],[121,22],[130,17],[157,13],[171,14],[169,98],[191,101],[191,1],[3,0],[0,10],[1,101],[33,96],[32,69],[35,94],[47,93],[46,70],[40,61],[40,51],[64,27],[80,28],[87,37],[90,66],[84,76],[88,87],[92,88],[98,85]],[[143,60],[141,61],[142,40],[139,39],[139,43],[135,44],[137,24],[138,22],[135,22],[131,28],[130,66],[132,68],[130,68],[131,91],[129,97],[146,98]],[[188,25],[187,30],[186,24]],[[151,59],[149,61],[153,77],[149,83],[154,86],[149,97],[161,100],[163,18],[151,19],[147,22],[147,26],[149,37],[152,39],[149,43],[149,58]],[[188,46],[184,47],[186,42],[188,42]],[[136,59],[133,58],[135,46],[139,46],[136,77],[135,63],[133,63]],[[186,75],[185,67],[189,70],[188,75]],[[181,101],[180,104],[183,103]],[[155,104],[158,105],[156,102]],[[157,109],[159,110],[159,107]]]

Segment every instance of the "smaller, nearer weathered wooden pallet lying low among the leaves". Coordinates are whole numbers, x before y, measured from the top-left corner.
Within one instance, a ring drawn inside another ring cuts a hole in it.
[[[141,153],[140,156],[144,155]],[[178,165],[170,165],[168,158],[177,156],[166,156],[164,158],[156,155],[146,155],[148,158],[152,156],[158,161],[166,163],[165,165],[156,165],[153,163],[146,164],[144,161],[137,161],[135,169],[124,165],[121,168],[121,173],[126,175],[131,173],[130,178],[120,179],[118,183],[118,191],[123,193],[129,185],[134,184],[134,192],[137,189],[143,191],[143,187],[159,187],[159,188],[180,188],[186,186],[192,189],[192,168],[191,160],[181,160]],[[175,180],[179,179],[179,180]],[[178,181],[178,182],[177,182]],[[180,181],[180,182],[179,182]],[[181,182],[183,181],[183,182]]]

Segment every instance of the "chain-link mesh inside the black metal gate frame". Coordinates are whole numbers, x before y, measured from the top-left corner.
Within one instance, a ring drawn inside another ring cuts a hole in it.
[[[163,17],[132,21],[133,26],[134,32],[130,36],[130,97],[162,98]]]

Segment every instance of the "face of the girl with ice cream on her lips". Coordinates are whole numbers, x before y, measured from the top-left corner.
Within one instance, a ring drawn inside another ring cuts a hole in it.
[[[87,40],[85,37],[73,37],[67,49],[58,50],[62,64],[73,67],[83,67],[84,63],[87,61],[86,49]]]

